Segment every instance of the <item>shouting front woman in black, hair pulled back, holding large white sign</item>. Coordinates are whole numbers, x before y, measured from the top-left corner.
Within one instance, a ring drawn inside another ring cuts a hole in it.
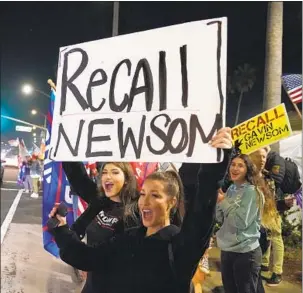
[[[230,129],[221,129],[212,139],[215,148],[230,149]],[[105,279],[104,292],[187,293],[196,266],[208,248],[214,225],[218,181],[228,158],[218,164],[201,164],[198,190],[191,197],[181,229],[172,225],[178,216],[183,186],[176,172],[149,175],[141,189],[138,206],[143,227],[86,246],[56,214],[54,229],[62,260],[86,271],[99,271]]]

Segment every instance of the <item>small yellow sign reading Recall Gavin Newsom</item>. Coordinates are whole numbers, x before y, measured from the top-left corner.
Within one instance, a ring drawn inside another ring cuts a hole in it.
[[[242,154],[250,154],[292,133],[284,104],[265,111],[232,129],[232,138]]]

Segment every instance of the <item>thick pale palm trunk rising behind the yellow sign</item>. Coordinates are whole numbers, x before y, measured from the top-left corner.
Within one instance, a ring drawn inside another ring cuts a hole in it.
[[[281,104],[283,2],[269,2],[267,11],[266,57],[263,109]],[[272,145],[279,152],[279,143]]]

